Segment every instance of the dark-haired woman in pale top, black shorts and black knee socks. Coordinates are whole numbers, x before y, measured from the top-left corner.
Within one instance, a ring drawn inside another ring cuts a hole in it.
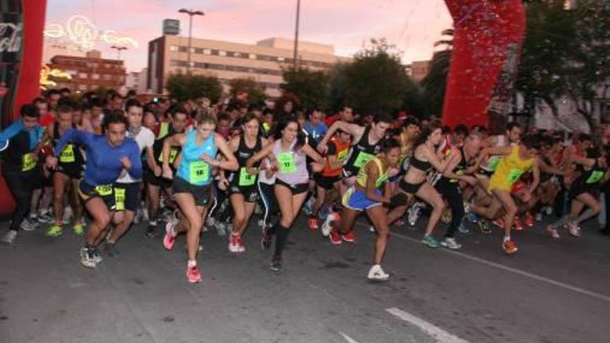
[[[311,168],[317,173],[324,169],[324,159],[305,141],[301,127],[295,116],[281,118],[275,127],[275,141],[246,161],[246,167],[268,157],[276,171],[275,197],[279,204],[281,218],[275,227],[265,229],[263,246],[269,247],[270,236],[277,234],[275,254],[271,263],[272,270],[281,269],[281,252],[288,240],[288,230],[293,225],[299,209],[307,197],[309,173],[306,158],[311,157]]]

